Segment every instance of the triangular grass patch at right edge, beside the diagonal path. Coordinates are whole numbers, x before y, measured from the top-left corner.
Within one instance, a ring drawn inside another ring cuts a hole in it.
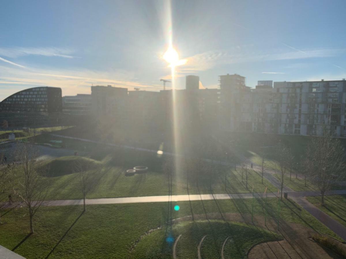
[[[320,210],[327,213],[330,217],[339,221],[346,227],[346,195],[325,196],[325,205],[321,206],[321,196],[306,197],[309,202]]]

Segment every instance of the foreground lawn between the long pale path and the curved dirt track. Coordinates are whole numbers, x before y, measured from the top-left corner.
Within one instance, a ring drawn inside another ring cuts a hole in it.
[[[15,252],[26,258],[44,258],[58,244],[50,258],[130,258],[129,250],[142,234],[159,226],[164,227],[167,205],[168,203],[88,205],[82,215],[82,206],[42,207],[34,217],[35,233],[22,242]],[[174,205],[175,203],[172,204]],[[191,215],[191,210],[194,214],[219,211],[251,213],[252,200],[192,201],[191,207],[189,202],[179,202],[179,205],[180,210],[173,211],[172,218]],[[272,216],[277,215],[275,198],[268,199],[267,208]],[[254,214],[264,215],[263,207],[256,199]],[[280,217],[338,238],[294,202],[283,202]],[[29,231],[27,210],[17,208],[5,211],[2,213],[2,221],[0,244],[13,249],[25,239]],[[244,247],[246,249],[246,243]]]

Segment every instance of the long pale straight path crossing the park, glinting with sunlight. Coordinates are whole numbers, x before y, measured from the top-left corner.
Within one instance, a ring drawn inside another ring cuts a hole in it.
[[[327,192],[326,195],[342,195],[346,194],[346,190],[335,190]],[[304,196],[319,196],[319,192],[303,191],[288,192],[288,196],[292,199]],[[263,193],[254,193],[255,197],[263,197]],[[276,197],[276,193],[269,193],[268,198]],[[162,195],[162,196],[139,196],[124,198],[103,198],[103,199],[85,199],[85,204],[126,204],[126,203],[146,203],[146,202],[179,202],[179,201],[200,201],[200,200],[229,200],[229,199],[251,199],[252,193],[220,193],[220,194],[190,194],[190,195]],[[52,200],[45,201],[44,206],[67,206],[82,205],[83,199],[80,200]],[[8,205],[8,208],[20,206],[19,202]]]

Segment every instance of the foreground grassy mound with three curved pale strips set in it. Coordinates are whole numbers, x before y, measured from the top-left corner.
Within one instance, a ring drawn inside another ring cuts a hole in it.
[[[172,239],[167,240],[168,236]],[[244,258],[247,251],[256,243],[282,239],[277,234],[242,223],[231,223],[218,220],[180,222],[172,228],[155,230],[137,244],[131,258],[171,258],[175,238],[182,235],[176,248],[179,258],[197,258],[197,248],[204,235],[201,247],[202,258],[220,258],[222,244],[228,236],[231,238],[225,245],[225,258]]]

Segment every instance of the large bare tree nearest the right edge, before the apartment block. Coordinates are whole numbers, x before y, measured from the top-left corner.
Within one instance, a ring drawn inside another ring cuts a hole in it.
[[[308,144],[305,166],[308,178],[321,192],[323,206],[326,191],[345,177],[345,150],[326,125],[321,128],[321,136],[313,137]]]

